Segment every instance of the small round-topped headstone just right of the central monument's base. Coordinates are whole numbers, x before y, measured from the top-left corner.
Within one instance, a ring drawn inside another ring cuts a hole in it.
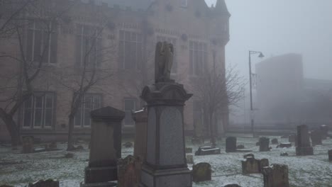
[[[206,162],[201,162],[199,164],[194,164],[192,166],[192,181],[211,181],[211,165]]]

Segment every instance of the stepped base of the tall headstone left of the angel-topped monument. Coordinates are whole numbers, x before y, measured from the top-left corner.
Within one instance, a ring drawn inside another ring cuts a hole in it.
[[[118,169],[111,167],[86,167],[84,183],[106,183],[118,180]],[[103,186],[104,187],[104,186]]]

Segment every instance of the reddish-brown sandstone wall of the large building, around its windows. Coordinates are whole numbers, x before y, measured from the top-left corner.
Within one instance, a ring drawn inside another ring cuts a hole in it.
[[[52,3],[52,1],[50,1]],[[61,0],[52,4],[56,10],[68,6],[70,1]],[[172,6],[172,8],[169,7]],[[111,69],[111,77],[96,84],[89,94],[101,94],[101,106],[112,106],[124,110],[124,99],[134,98],[136,110],[140,110],[143,103],[140,101],[140,92],[143,86],[153,83],[154,49],[157,37],[175,38],[177,73],[172,79],[185,85],[193,94],[193,77],[189,75],[189,42],[197,41],[206,44],[206,66],[211,66],[212,51],[217,52],[216,62],[225,67],[225,45],[229,40],[229,15],[219,15],[208,8],[204,1],[188,1],[187,7],[182,7],[179,1],[155,1],[147,11],[123,10],[110,8],[105,4],[75,4],[58,21],[57,27],[57,63],[47,64],[45,71],[40,73],[34,82],[38,91],[50,91],[55,94],[54,123],[52,128],[22,128],[22,135],[36,135],[47,139],[65,139],[68,130],[68,115],[73,91],[64,85],[73,86],[79,78],[77,76],[81,67],[75,64],[77,42],[77,24],[103,27],[101,33],[102,45],[108,46],[108,52],[103,55],[105,62],[101,63],[99,73]],[[144,63],[145,69],[121,69],[119,67],[119,40],[121,30],[138,33],[143,37],[143,57],[139,60]],[[17,52],[17,44],[12,43],[1,51]],[[1,60],[0,60],[1,61]],[[2,62],[3,66],[9,64]],[[12,67],[9,67],[13,69]],[[17,69],[17,68],[14,68]],[[1,68],[1,72],[4,69]],[[12,70],[11,70],[12,71]],[[9,71],[10,72],[10,71]],[[70,77],[68,77],[70,75]],[[4,81],[4,79],[2,79]],[[193,130],[193,97],[187,101],[184,108],[184,125],[187,132]],[[4,106],[6,103],[0,103]],[[228,123],[228,114],[221,116],[219,126]],[[21,118],[17,119],[22,123]],[[221,122],[223,121],[223,122]],[[22,125],[22,124],[21,124]],[[4,123],[0,122],[0,140],[8,139],[4,130]],[[220,128],[221,129],[221,128]],[[133,132],[133,127],[124,127],[125,132]],[[89,128],[75,128],[75,135],[89,137]]]

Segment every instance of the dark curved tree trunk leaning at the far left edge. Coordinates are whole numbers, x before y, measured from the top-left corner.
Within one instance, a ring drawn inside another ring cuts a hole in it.
[[[11,136],[11,149],[17,149],[17,146],[20,143],[20,130],[16,122],[13,120],[13,115],[9,115],[0,108],[0,118],[6,124],[6,128]]]

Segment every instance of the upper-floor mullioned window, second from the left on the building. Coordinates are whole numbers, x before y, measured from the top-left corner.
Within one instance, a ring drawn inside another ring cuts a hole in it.
[[[76,62],[80,67],[99,67],[101,64],[101,28],[77,25]]]

